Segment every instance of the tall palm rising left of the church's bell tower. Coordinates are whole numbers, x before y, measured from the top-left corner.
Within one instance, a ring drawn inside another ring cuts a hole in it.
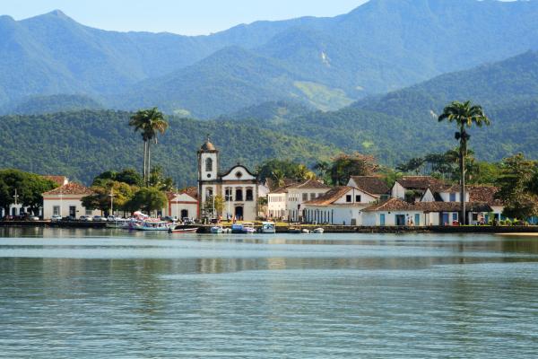
[[[143,181],[147,185],[150,178],[152,140],[157,143],[158,132],[164,134],[169,127],[162,112],[156,107],[138,110],[129,121],[134,132],[140,131],[143,139]]]

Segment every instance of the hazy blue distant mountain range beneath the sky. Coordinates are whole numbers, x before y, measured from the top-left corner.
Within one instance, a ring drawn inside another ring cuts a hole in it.
[[[0,106],[88,94],[108,107],[215,117],[263,101],[339,109],[538,48],[537,1],[370,0],[334,18],[210,36],[100,31],[61,12],[0,17]]]

